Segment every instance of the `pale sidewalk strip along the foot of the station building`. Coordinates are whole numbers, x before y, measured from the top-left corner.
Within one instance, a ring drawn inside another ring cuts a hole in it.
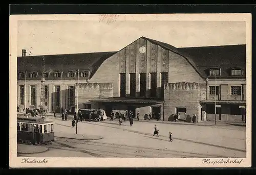
[[[48,116],[53,116],[53,113],[49,113],[47,114]],[[56,114],[56,117],[61,117],[60,114]],[[74,115],[68,115],[68,118],[74,118]],[[108,117],[108,120],[110,120],[110,117]],[[118,118],[114,118],[114,120],[118,120]],[[137,118],[134,119],[135,121],[137,121]],[[180,121],[178,120],[177,122],[175,121],[162,121],[162,120],[144,120],[144,119],[140,119],[140,122],[157,122],[157,123],[172,123],[172,124],[190,124],[190,125],[197,125],[197,126],[240,126],[240,127],[246,127],[246,123],[245,122],[225,122],[225,121],[217,121],[216,124],[214,121],[201,121],[198,123],[187,123],[184,121]]]

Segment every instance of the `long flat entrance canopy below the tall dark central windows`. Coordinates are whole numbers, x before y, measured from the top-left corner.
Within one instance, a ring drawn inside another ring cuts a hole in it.
[[[163,101],[155,99],[139,99],[139,98],[100,98],[91,99],[90,102],[108,102],[108,103],[133,103],[133,104],[162,104]]]

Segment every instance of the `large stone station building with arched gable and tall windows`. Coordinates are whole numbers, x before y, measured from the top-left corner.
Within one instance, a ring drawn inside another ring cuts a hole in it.
[[[168,120],[180,112],[180,119],[196,114],[200,122],[215,120],[217,102],[217,120],[246,119],[246,45],[176,48],[141,37],[118,52],[44,57],[45,72],[42,56],[18,57],[20,109],[40,105],[44,73],[49,112],[74,112],[78,99],[78,108],[107,114],[133,111],[143,119],[151,112]]]

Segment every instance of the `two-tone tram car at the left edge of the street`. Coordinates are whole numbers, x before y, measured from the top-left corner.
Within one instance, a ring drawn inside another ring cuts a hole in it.
[[[17,116],[17,142],[52,143],[54,141],[54,122],[41,117]]]

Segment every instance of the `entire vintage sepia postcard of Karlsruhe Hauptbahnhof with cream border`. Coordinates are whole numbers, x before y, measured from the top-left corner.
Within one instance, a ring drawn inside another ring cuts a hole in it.
[[[251,14],[11,15],[9,76],[11,168],[251,166]]]

